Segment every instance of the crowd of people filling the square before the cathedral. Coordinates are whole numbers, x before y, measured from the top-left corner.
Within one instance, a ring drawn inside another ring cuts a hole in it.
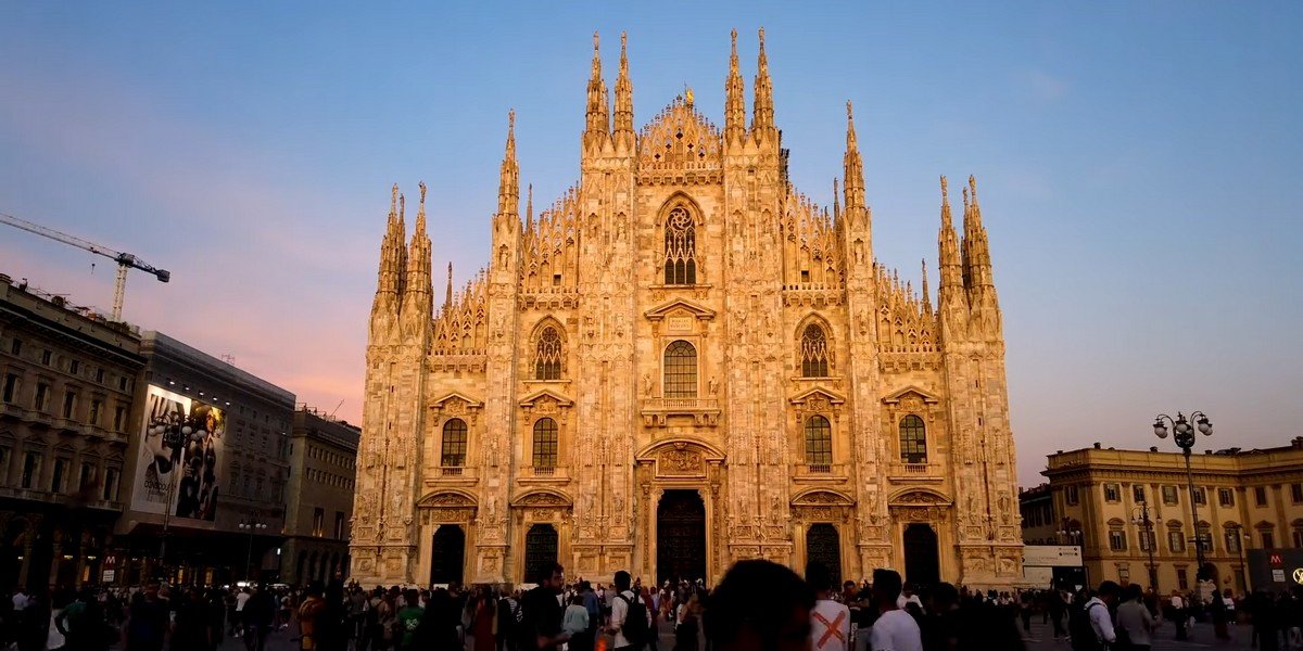
[[[567,582],[564,568],[533,589],[397,586],[340,581],[305,589],[249,586],[136,590],[14,590],[0,599],[0,648],[18,651],[212,651],[228,638],[263,651],[268,635],[302,651],[967,651],[1024,648],[1040,617],[1074,651],[1145,651],[1164,622],[1187,639],[1194,622],[1229,639],[1252,626],[1263,651],[1303,650],[1303,589],[1280,595],[1230,590],[1201,600],[1105,581],[1096,590],[975,591],[950,583],[915,591],[894,570],[838,585],[812,562],[804,577],[741,561],[708,589],[700,578],[644,586]],[[668,639],[666,639],[668,638]]]

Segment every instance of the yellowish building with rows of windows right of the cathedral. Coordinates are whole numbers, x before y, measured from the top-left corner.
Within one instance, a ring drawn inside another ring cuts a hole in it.
[[[1190,488],[1173,450],[1096,447],[1049,456],[1044,474],[1065,522],[1059,530],[1081,531],[1092,583],[1148,585],[1152,548],[1158,587],[1194,590]],[[1191,467],[1199,536],[1218,589],[1243,590],[1247,549],[1303,547],[1303,437],[1283,448],[1196,453]],[[1143,525],[1144,506],[1152,529]]]

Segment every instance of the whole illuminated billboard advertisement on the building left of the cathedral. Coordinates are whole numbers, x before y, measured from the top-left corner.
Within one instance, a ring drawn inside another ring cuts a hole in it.
[[[132,508],[212,522],[224,435],[220,409],[150,384]]]

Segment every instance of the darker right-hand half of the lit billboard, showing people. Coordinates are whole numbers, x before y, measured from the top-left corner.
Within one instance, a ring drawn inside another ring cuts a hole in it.
[[[190,404],[190,414],[181,428],[181,474],[176,491],[173,516],[212,522],[218,514],[218,461],[225,435],[225,414],[202,402]]]

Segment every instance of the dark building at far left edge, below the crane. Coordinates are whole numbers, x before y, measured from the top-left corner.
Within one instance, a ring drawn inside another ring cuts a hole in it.
[[[143,366],[128,324],[0,275],[0,586],[73,586],[113,569]]]

